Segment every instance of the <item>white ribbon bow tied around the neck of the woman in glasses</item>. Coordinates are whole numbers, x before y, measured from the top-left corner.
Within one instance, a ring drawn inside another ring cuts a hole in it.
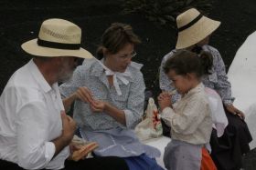
[[[101,62],[103,62],[103,59],[101,60]],[[125,77],[131,77],[132,76],[131,72],[129,70],[127,70],[127,69],[123,73],[121,73],[121,72],[113,72],[110,68],[106,67],[101,62],[99,62],[99,63],[105,69],[105,74],[107,76],[108,75],[113,75],[113,86],[114,86],[114,88],[116,90],[117,95],[122,95],[122,92],[121,92],[119,83],[117,81],[117,78],[119,80],[121,80],[124,85],[128,85],[129,81]],[[134,63],[134,62],[132,62],[130,65],[135,67],[135,68],[137,68],[138,70],[140,70],[141,67],[143,66],[141,64],[137,64],[137,63]]]

